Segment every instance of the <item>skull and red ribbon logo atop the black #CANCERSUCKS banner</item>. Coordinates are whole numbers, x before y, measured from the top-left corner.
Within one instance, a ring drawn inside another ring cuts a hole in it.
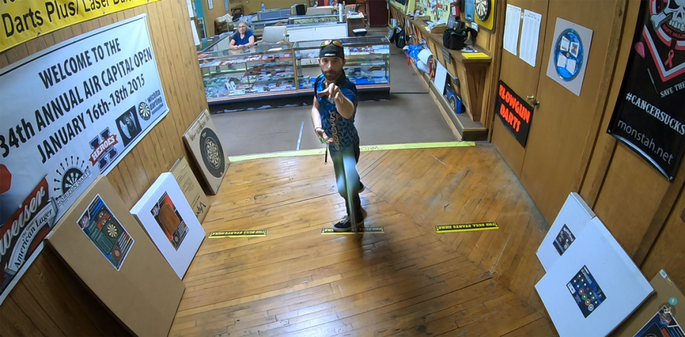
[[[685,73],[685,59],[678,51],[685,50],[685,0],[651,0],[649,14],[652,26],[642,32],[654,59],[661,81],[669,81]],[[638,44],[642,57],[644,46]]]

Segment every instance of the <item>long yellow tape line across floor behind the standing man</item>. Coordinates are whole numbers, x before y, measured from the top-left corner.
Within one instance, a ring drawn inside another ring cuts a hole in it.
[[[389,144],[389,145],[367,145],[360,146],[361,152],[367,151],[388,151],[388,150],[409,150],[409,149],[435,149],[445,147],[467,147],[476,146],[474,141],[445,141],[441,143],[416,143],[416,144]],[[323,156],[326,149],[311,149],[300,151],[272,152],[270,154],[248,154],[244,156],[230,156],[229,161],[251,161],[254,159],[299,157],[299,156]]]

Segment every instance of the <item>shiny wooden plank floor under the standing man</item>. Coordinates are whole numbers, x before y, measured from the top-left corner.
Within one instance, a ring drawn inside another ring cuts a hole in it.
[[[321,235],[345,213],[330,160],[231,164],[205,230],[268,235],[204,241],[169,336],[556,336],[532,290],[546,224],[489,144],[365,152],[358,169],[384,234]],[[501,228],[435,233],[472,221]]]

